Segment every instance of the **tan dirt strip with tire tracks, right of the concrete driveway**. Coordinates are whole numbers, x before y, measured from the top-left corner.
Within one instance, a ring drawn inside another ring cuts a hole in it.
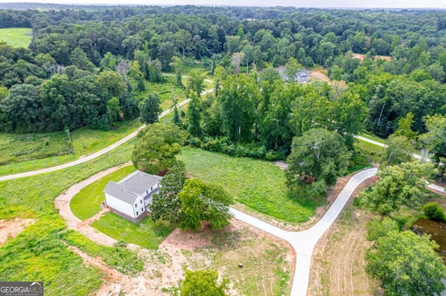
[[[376,295],[378,284],[365,272],[366,224],[371,214],[353,206],[353,199],[376,178],[367,179],[353,193],[346,208],[318,241],[312,257],[308,295]]]

